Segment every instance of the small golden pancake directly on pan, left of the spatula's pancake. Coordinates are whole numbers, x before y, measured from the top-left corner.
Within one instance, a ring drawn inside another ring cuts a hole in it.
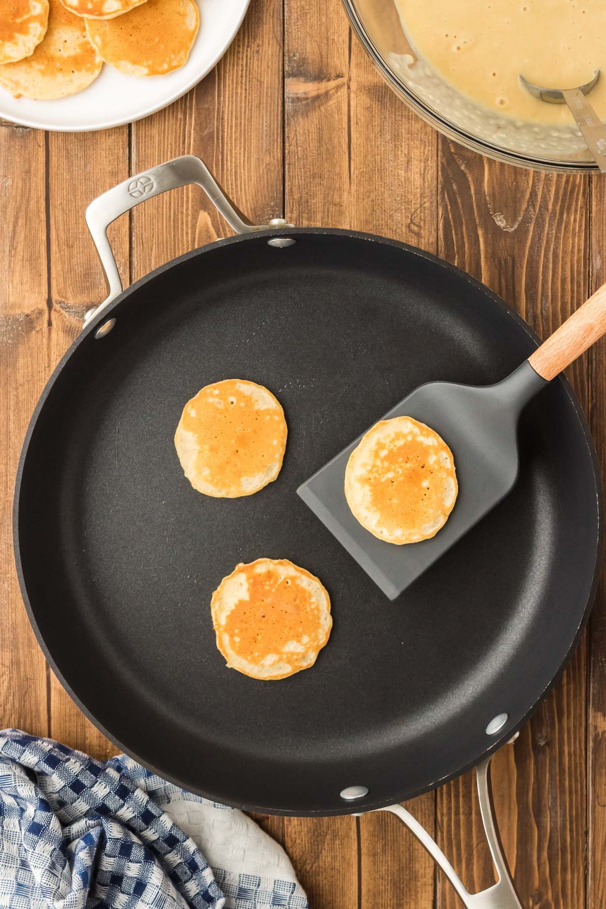
[[[275,480],[286,434],[282,406],[267,388],[224,379],[205,385],[184,406],[174,446],[194,489],[232,499]]]

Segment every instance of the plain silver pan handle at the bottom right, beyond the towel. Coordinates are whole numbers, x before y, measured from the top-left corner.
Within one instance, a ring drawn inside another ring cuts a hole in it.
[[[433,841],[430,834],[412,817],[412,814],[402,808],[401,804],[392,804],[386,808],[380,808],[379,811],[391,811],[392,814],[400,818],[402,824],[406,824],[411,833],[416,836],[422,846],[432,856],[434,862],[440,865],[443,873],[446,874],[457,894],[461,897],[462,904],[467,909],[522,909],[522,903],[513,885],[512,874],[502,852],[501,839],[494,816],[490,774],[491,761],[492,756],[482,761],[482,764],[478,764],[475,768],[475,774],[478,784],[482,824],[484,825],[484,832],[491,850],[492,862],[497,872],[497,883],[487,890],[482,890],[479,894],[470,894],[465,889],[461,878],[442,853],[442,850]]]

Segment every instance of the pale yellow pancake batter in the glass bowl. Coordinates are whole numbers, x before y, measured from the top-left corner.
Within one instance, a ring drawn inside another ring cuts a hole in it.
[[[490,110],[566,125],[566,105],[545,104],[520,84],[574,88],[601,70],[591,105],[606,118],[604,0],[395,0],[416,53]]]

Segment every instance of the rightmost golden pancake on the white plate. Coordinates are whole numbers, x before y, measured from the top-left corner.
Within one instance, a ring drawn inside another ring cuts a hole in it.
[[[115,19],[86,19],[86,31],[104,61],[121,73],[164,75],[184,65],[199,24],[194,0],[146,0]]]

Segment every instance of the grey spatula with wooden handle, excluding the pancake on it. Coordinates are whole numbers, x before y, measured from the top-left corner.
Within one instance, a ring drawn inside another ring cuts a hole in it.
[[[387,543],[354,518],[344,477],[362,435],[297,493],[382,592],[395,599],[510,492],[518,475],[517,425],[524,405],[604,334],[606,285],[496,385],[430,382],[381,417],[412,416],[442,435],[452,450],[459,494],[448,521],[431,540]]]

